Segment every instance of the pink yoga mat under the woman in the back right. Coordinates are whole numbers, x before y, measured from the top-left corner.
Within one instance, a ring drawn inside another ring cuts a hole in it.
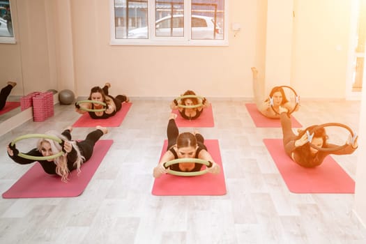
[[[245,107],[247,107],[247,111],[249,112],[252,120],[256,127],[265,127],[265,128],[281,128],[280,119],[269,119],[263,114],[261,114],[255,103],[245,103]],[[291,116],[291,123],[293,128],[303,127],[293,116]]]

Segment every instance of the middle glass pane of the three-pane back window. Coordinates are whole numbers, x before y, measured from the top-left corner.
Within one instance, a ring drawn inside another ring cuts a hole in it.
[[[184,36],[183,0],[155,1],[155,36]]]

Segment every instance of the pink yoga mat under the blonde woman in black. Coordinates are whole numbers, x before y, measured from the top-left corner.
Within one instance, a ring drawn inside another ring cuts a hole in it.
[[[94,147],[93,155],[81,167],[81,172],[71,171],[67,183],[60,176],[49,175],[43,171],[38,162],[3,193],[3,198],[34,197],[77,197],[82,194],[102,162],[113,140],[99,140]]]

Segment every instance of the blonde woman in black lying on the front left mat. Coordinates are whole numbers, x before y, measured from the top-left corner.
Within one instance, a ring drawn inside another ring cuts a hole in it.
[[[90,132],[84,141],[71,141],[71,131],[73,128],[68,126],[66,130],[64,130],[61,135],[55,131],[46,132],[46,135],[52,135],[59,137],[59,139],[63,140],[62,144],[55,142],[52,139],[44,139],[41,138],[38,140],[37,148],[33,148],[31,151],[26,153],[27,155],[38,156],[38,157],[47,157],[50,155],[54,155],[59,151],[65,152],[63,155],[49,160],[38,160],[40,165],[43,167],[43,170],[47,174],[57,174],[61,176],[62,181],[68,181],[68,174],[70,171],[77,170],[79,173],[80,166],[88,161],[93,154],[93,148],[98,139],[102,137],[102,135],[107,134],[107,128],[97,126],[96,130]],[[18,156],[19,151],[15,148],[15,144],[11,146],[11,143],[8,145],[8,155],[15,162],[20,165],[27,165],[35,160],[29,160],[26,158],[21,158]]]

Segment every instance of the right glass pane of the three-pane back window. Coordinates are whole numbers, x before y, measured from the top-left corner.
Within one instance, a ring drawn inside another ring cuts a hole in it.
[[[192,0],[192,39],[224,39],[224,0]]]

